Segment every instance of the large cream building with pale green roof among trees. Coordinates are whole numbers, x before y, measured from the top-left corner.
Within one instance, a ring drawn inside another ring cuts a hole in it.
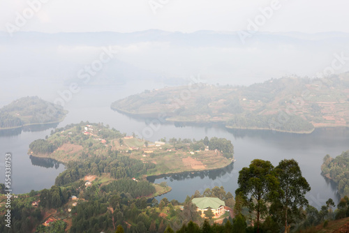
[[[201,211],[202,218],[205,218],[205,211],[211,208],[215,218],[218,218],[225,213],[225,202],[220,200],[218,197],[198,197],[191,200],[193,204],[198,206],[198,211]]]

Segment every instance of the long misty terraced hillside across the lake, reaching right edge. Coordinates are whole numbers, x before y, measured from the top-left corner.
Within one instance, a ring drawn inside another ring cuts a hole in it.
[[[349,73],[316,79],[282,77],[248,87],[166,87],[117,100],[111,108],[166,121],[311,133],[314,128],[349,126]]]

